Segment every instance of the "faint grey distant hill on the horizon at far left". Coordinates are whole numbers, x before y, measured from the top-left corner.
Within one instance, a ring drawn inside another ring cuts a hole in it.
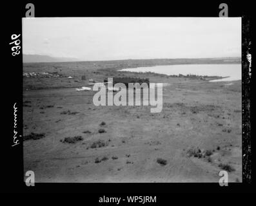
[[[59,57],[50,57],[48,55],[30,55],[23,54],[23,62],[74,62],[79,61],[79,59],[75,58],[59,58]]]

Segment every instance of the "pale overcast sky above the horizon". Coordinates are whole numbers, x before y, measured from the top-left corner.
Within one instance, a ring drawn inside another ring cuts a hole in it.
[[[23,54],[81,61],[241,57],[241,17],[23,18]]]

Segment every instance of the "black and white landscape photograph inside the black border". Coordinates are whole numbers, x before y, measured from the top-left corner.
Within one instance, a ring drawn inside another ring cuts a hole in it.
[[[241,17],[22,26],[24,170],[35,182],[218,183],[220,171],[242,182]]]

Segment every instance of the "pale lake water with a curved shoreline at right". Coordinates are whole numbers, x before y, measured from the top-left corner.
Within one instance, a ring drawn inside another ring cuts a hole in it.
[[[165,75],[202,75],[227,77],[224,79],[211,80],[211,82],[232,81],[242,79],[241,64],[177,64],[161,65],[139,68],[128,68],[120,71],[154,72]]]

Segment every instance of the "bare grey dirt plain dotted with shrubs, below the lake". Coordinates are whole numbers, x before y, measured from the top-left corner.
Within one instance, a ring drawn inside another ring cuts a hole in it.
[[[230,182],[241,182],[241,81],[117,71],[126,66],[25,64],[23,72],[63,75],[23,78],[24,169],[35,172],[35,182],[219,182],[222,168]],[[94,106],[95,91],[75,91],[89,78],[115,76],[168,83],[161,113],[150,113],[151,106]],[[65,142],[74,136],[82,140]]]

